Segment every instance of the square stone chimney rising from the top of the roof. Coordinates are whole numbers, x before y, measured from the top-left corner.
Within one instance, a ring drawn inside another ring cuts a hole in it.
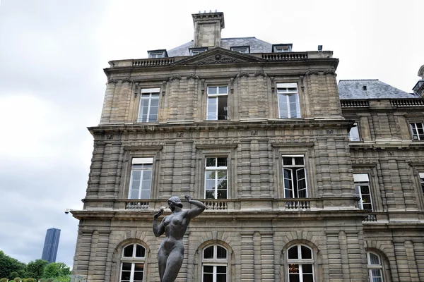
[[[194,13],[194,48],[219,47],[220,34],[224,28],[224,13]]]

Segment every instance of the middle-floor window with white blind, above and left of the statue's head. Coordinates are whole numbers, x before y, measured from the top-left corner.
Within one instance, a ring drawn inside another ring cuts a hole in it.
[[[133,158],[129,199],[149,199],[151,197],[153,158]]]

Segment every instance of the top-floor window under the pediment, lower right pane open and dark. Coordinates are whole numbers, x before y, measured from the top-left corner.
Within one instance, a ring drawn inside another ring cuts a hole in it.
[[[228,86],[208,86],[208,121],[228,119]]]

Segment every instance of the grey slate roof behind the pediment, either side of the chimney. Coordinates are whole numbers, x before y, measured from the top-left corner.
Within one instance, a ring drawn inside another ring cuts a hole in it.
[[[189,48],[193,48],[193,40],[187,42],[186,44],[182,44],[179,47],[175,47],[174,49],[170,49],[167,51],[168,56],[176,57],[176,56],[189,56]],[[240,37],[240,38],[222,38],[220,42],[220,47],[223,49],[230,50],[230,47],[236,46],[249,46],[250,53],[271,53],[272,52],[272,44],[268,42],[264,42],[261,39],[257,39],[256,37]]]

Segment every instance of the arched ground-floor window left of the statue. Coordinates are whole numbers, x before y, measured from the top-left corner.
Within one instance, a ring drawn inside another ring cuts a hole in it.
[[[146,249],[139,244],[124,247],[121,257],[120,282],[143,282]]]

